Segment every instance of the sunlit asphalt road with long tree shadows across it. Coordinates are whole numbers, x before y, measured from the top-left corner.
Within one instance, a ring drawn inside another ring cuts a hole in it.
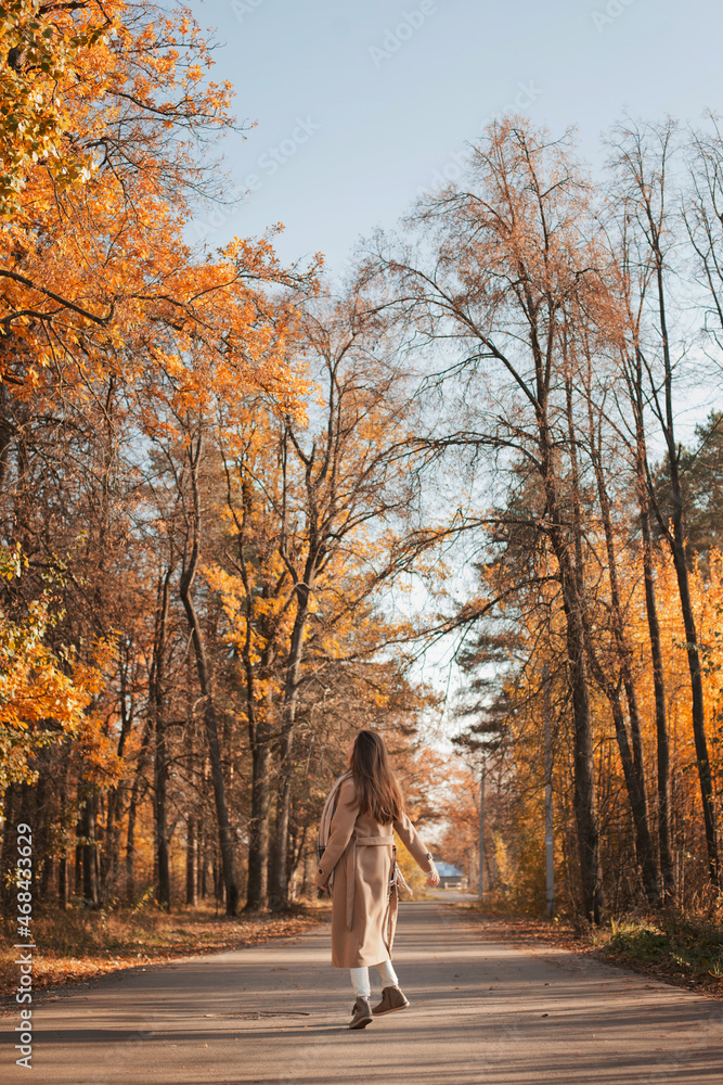
[[[14,1062],[15,1018],[1,1020],[0,1082],[723,1082],[723,1003],[567,950],[488,940],[436,901],[400,909],[408,1010],[350,1032],[348,974],[328,959],[324,926],[75,987],[36,1007],[29,1075]]]

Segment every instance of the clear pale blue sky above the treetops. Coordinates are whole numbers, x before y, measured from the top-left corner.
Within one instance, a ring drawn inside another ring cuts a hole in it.
[[[201,232],[215,245],[283,221],[285,260],[344,271],[360,234],[393,226],[421,188],[516,95],[553,132],[723,110],[720,0],[192,0],[216,27],[214,78],[255,122],[227,139],[232,188]],[[388,33],[390,31],[390,33]],[[527,94],[529,103],[524,97]]]

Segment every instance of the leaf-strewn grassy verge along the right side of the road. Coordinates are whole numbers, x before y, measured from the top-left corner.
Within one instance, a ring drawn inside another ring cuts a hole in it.
[[[468,905],[492,936],[518,943],[552,942],[649,979],[723,998],[723,917],[667,910],[609,918],[597,928],[572,917],[520,916],[503,903]]]

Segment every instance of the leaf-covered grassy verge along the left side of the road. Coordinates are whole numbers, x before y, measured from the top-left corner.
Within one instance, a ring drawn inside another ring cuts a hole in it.
[[[31,934],[33,986],[37,991],[79,983],[120,969],[157,965],[175,957],[257,945],[270,939],[294,936],[321,922],[324,903],[305,902],[283,915],[217,916],[212,905],[177,907],[165,912],[152,904],[142,907],[66,911],[43,909],[34,915]],[[15,923],[0,923],[0,1000],[14,994],[18,982]]]

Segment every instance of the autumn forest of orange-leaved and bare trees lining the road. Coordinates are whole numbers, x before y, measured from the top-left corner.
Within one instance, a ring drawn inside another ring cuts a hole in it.
[[[723,131],[502,115],[333,282],[189,240],[192,14],[0,24],[0,893],[313,895],[361,727],[435,854],[599,923],[723,890]],[[240,103],[243,108],[243,103]],[[444,665],[419,661],[442,655]]]

